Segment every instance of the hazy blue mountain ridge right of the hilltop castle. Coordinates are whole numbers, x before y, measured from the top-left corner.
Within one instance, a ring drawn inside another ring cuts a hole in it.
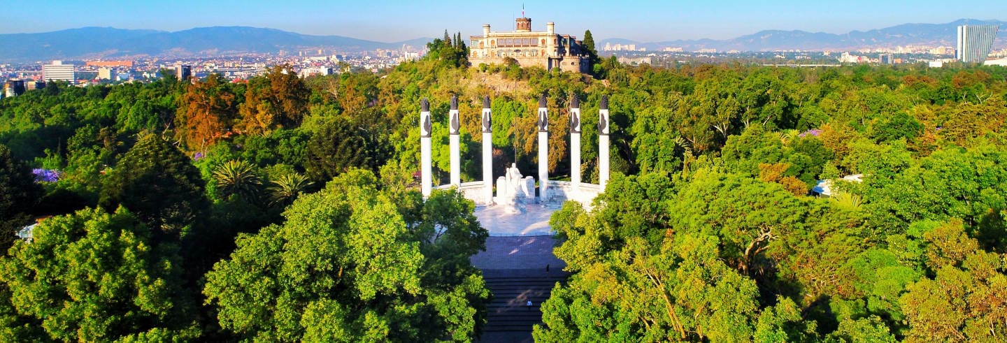
[[[602,39],[595,44],[599,50],[605,43],[636,44],[656,50],[662,47],[682,47],[685,50],[715,48],[719,51],[771,51],[771,50],[843,50],[865,47],[895,47],[898,45],[955,46],[955,33],[961,24],[999,24],[995,47],[1007,47],[1007,22],[1000,20],[959,19],[945,24],[901,24],[869,31],[850,31],[846,34],[808,32],[801,30],[763,30],[732,39],[689,39],[660,42],[634,42],[622,38]]]

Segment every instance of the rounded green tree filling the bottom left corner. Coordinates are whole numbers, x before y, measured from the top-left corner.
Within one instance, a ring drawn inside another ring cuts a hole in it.
[[[83,209],[15,243],[0,259],[0,281],[17,314],[44,330],[32,341],[190,340],[200,330],[180,260],[122,207]]]

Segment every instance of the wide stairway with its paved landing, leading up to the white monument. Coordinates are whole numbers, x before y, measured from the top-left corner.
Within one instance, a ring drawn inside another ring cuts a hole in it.
[[[542,323],[542,303],[569,277],[552,254],[553,243],[548,236],[489,237],[486,251],[472,256],[493,294],[481,342],[532,342],[532,327]]]

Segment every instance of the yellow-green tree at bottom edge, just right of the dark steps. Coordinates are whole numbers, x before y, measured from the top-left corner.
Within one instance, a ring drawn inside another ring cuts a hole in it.
[[[596,237],[587,230],[576,239]],[[536,341],[750,337],[758,291],[720,261],[718,243],[713,236],[684,234],[655,252],[645,240],[628,239],[553,291],[542,305],[545,325],[536,325]]]

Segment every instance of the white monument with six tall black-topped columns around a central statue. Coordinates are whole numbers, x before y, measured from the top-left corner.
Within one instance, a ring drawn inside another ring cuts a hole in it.
[[[432,189],[456,188],[463,196],[476,204],[475,215],[479,222],[490,231],[490,235],[537,235],[550,234],[549,216],[567,200],[574,200],[585,207],[604,190],[608,182],[608,144],[610,133],[608,98],[601,97],[598,111],[598,184],[581,180],[581,117],[580,100],[576,97],[569,102],[570,117],[570,181],[549,179],[549,110],[546,95],[539,97],[537,111],[538,124],[538,172],[536,177],[525,176],[512,163],[505,169],[503,176],[493,179],[492,163],[492,110],[488,96],[482,97],[480,129],[482,132],[482,180],[461,182],[460,122],[457,97],[451,97],[448,113],[448,134],[450,149],[450,181],[444,185],[434,185],[432,178],[431,137],[432,117],[426,99],[420,102],[420,188],[424,197]],[[538,187],[536,187],[536,185]],[[494,187],[495,186],[495,187]],[[495,188],[495,191],[494,191]]]

